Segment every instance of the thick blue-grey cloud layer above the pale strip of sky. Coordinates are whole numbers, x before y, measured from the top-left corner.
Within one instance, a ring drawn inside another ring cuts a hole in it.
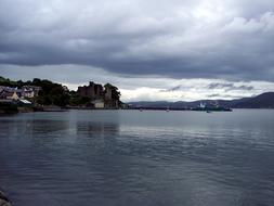
[[[273,11],[270,0],[0,0],[0,64],[273,81]]]

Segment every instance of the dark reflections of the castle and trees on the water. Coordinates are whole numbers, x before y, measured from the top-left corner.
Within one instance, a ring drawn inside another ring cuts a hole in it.
[[[116,136],[119,133],[119,125],[115,123],[94,121],[69,121],[50,119],[14,119],[0,120],[0,137],[27,136],[38,137],[39,134],[73,134],[102,137]]]

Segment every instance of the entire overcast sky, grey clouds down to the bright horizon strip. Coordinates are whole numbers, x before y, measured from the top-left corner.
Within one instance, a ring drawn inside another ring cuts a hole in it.
[[[0,76],[123,101],[274,91],[273,0],[0,0]]]

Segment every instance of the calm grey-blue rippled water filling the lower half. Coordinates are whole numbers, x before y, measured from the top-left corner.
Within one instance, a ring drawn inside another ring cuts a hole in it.
[[[274,205],[274,111],[0,117],[15,206]]]

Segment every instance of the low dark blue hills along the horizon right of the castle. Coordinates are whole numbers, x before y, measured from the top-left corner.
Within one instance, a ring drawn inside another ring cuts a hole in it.
[[[266,92],[253,98],[243,98],[237,100],[199,100],[193,102],[167,102],[167,101],[141,101],[141,102],[129,102],[134,107],[152,107],[152,108],[191,108],[197,107],[200,102],[207,105],[214,105],[218,103],[223,107],[233,108],[274,108],[274,92]]]

